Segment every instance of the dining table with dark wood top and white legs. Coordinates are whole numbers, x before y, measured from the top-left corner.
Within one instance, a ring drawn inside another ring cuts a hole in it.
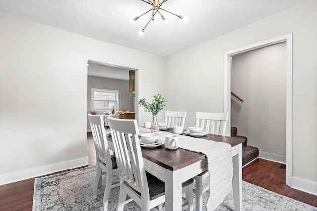
[[[185,130],[184,130],[185,131]],[[148,133],[148,129],[139,127],[139,134]],[[164,132],[172,133],[173,128]],[[186,133],[181,135],[188,136]],[[233,204],[235,211],[242,211],[242,143],[243,138],[222,135],[206,134],[205,140],[227,143],[232,149],[233,163]],[[110,149],[113,148],[111,135],[107,134]],[[202,180],[198,175],[208,169],[208,159],[205,154],[187,149],[178,148],[170,150],[164,145],[153,148],[142,148],[145,170],[165,182],[165,210],[179,211],[182,207],[182,182],[195,178],[195,190],[202,189]],[[196,211],[203,207],[202,195],[196,194]]]

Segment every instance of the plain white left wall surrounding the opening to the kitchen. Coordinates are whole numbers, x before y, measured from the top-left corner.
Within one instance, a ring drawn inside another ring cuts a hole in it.
[[[138,69],[136,100],[164,94],[161,57],[0,13],[0,184],[88,164],[87,60]]]

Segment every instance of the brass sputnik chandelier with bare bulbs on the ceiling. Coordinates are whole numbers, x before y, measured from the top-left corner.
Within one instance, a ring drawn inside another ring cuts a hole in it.
[[[165,10],[165,9],[162,8],[162,5],[163,5],[166,1],[168,1],[168,0],[163,0],[163,2],[161,2],[161,3],[159,2],[159,0],[157,0],[157,1],[156,1],[156,0],[147,0],[147,1],[141,0],[141,1],[143,1],[143,2],[145,2],[145,3],[151,5],[151,9],[150,9],[149,11],[143,13],[142,15],[145,15],[145,14],[147,14],[148,12],[152,11],[152,16],[151,16],[150,20],[148,21],[148,23],[145,25],[145,27],[143,27],[143,29],[141,29],[141,30],[139,31],[139,34],[140,34],[140,35],[143,35],[144,30],[145,30],[145,28],[148,26],[148,24],[150,23],[150,21],[151,21],[151,20],[154,21],[154,16],[155,16],[155,14],[157,14],[157,13],[159,13],[159,15],[161,16],[161,18],[163,19],[163,21],[164,21],[165,23],[167,22],[167,19],[165,18],[164,15],[161,14],[160,10],[163,10],[163,11],[165,11],[165,12],[168,12],[168,13],[172,14],[172,15],[175,15],[175,16],[178,17],[179,19],[183,20],[185,23],[188,21],[188,17],[186,17],[186,16],[181,16],[181,15],[176,15],[176,14],[174,14],[174,13],[172,13],[172,12],[169,12],[169,11],[167,11],[167,10]],[[139,15],[139,16],[136,16],[135,18],[132,18],[132,19],[131,19],[131,23],[134,23],[134,22],[135,22],[136,20],[138,20],[142,15]]]

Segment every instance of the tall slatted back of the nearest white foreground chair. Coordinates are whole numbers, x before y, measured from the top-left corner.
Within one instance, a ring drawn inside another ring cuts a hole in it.
[[[126,183],[149,200],[149,187],[139,142],[137,120],[108,117],[120,183]]]

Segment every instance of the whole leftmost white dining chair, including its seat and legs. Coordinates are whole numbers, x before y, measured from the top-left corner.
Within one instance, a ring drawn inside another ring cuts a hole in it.
[[[94,145],[96,150],[96,176],[93,184],[93,198],[97,198],[97,188],[101,187],[102,175],[106,173],[106,187],[103,198],[103,210],[108,210],[108,200],[110,189],[118,187],[120,183],[112,185],[113,175],[118,174],[117,163],[115,156],[111,155],[106,131],[104,128],[103,115],[91,115],[88,114],[88,119],[91,127],[91,132],[94,139]]]

